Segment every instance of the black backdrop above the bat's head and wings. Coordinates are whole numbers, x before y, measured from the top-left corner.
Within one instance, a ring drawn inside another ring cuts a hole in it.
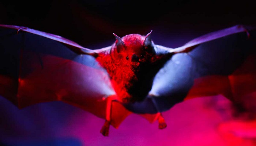
[[[122,37],[131,33],[146,35],[151,30],[153,40],[158,40],[155,43],[178,47],[206,32],[236,24],[256,25],[255,18],[255,5],[244,0],[23,0],[0,3],[1,24],[50,32],[90,49],[110,45],[112,42],[105,41],[114,41],[113,32]],[[159,37],[180,43],[164,43]]]

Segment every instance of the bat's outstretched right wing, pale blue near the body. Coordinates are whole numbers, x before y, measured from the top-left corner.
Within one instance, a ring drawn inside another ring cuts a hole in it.
[[[194,97],[222,94],[237,102],[255,97],[256,32],[246,28],[212,32],[176,49],[156,45],[159,54],[174,54],[154,77],[148,98],[126,107],[153,114]]]

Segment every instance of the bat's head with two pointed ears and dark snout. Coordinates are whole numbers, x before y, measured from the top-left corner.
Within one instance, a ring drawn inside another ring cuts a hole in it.
[[[151,61],[152,56],[155,54],[151,32],[146,36],[129,34],[123,38],[113,33],[116,37],[116,42],[113,46],[114,59],[131,65],[135,71],[139,69],[140,64]]]

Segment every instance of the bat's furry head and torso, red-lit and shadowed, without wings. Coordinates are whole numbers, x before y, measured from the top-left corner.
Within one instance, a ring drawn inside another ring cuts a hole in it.
[[[152,65],[160,58],[155,54],[150,34],[116,37],[108,54],[100,54],[97,60],[108,71],[114,90],[121,102],[143,100],[151,89],[151,78],[157,69]],[[155,72],[152,72],[155,70]],[[147,76],[147,77],[145,77]]]

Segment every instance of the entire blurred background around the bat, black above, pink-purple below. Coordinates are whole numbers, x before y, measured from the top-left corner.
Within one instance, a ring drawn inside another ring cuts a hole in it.
[[[153,30],[155,44],[179,47],[208,32],[237,24],[256,25],[251,1],[45,0],[1,1],[0,24],[25,26],[70,39],[89,49]],[[19,110],[0,96],[0,144],[9,146],[253,146],[256,124],[236,120],[229,100],[219,95],[192,99],[163,113],[165,130],[130,115],[109,137],[89,112],[59,101]]]

